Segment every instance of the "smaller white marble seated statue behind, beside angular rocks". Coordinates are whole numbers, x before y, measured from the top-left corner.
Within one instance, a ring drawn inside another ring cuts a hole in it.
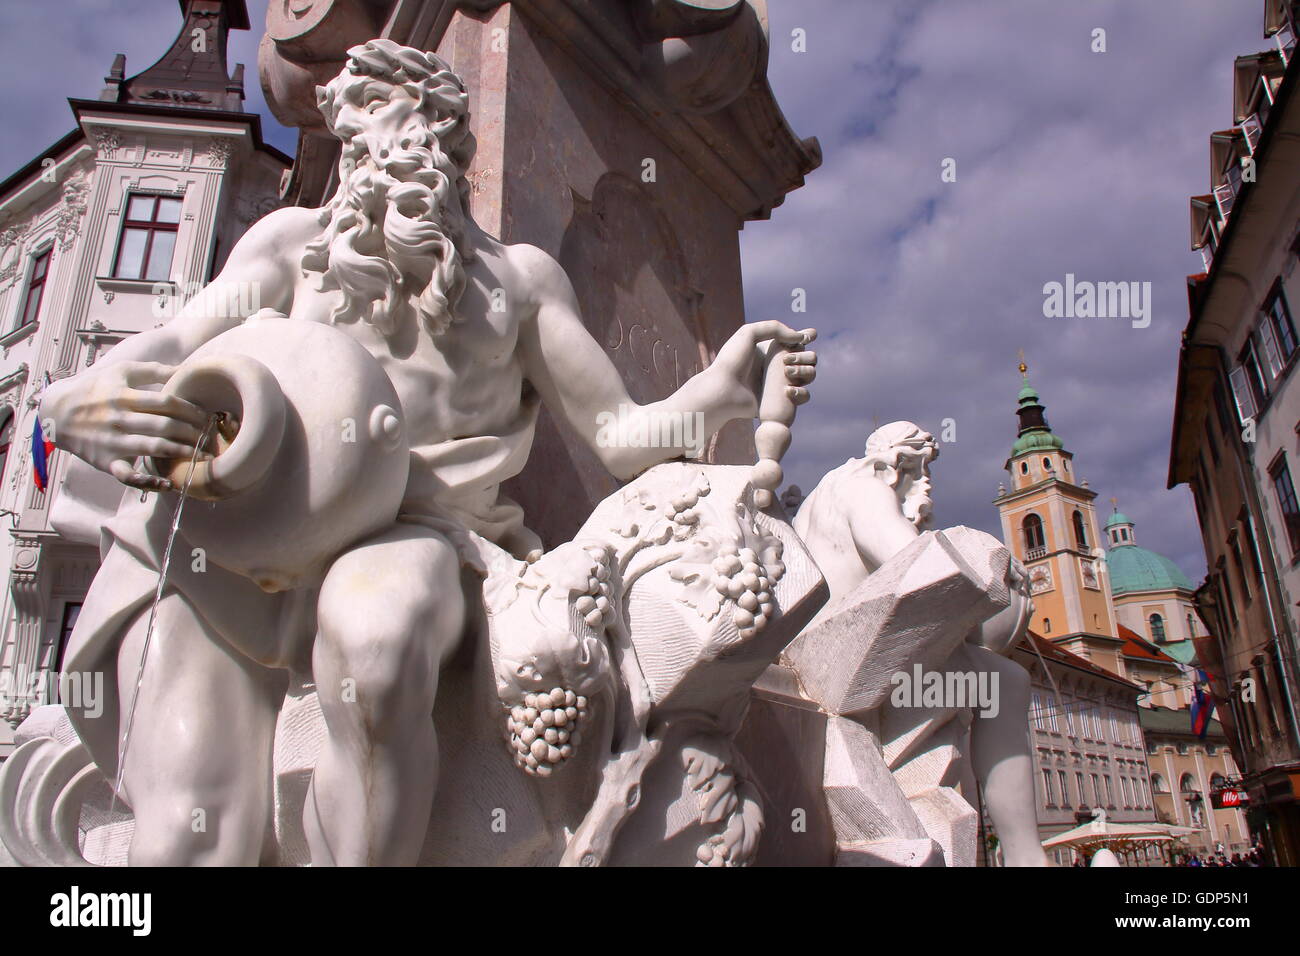
[[[1008,865],[1045,865],[1028,750],[1030,680],[1002,656],[1023,636],[1032,613],[1024,568],[996,538],[968,528],[948,529],[940,533],[966,561],[992,571],[989,592],[1001,592],[1001,610],[984,617],[976,607],[971,614],[956,593],[935,600],[924,627],[909,624],[897,610],[892,613],[900,619],[880,627],[879,615],[862,610],[870,607],[864,598],[871,579],[913,555],[924,536],[930,463],[937,454],[930,433],[894,421],[871,434],[862,458],[828,472],[809,494],[794,528],[826,575],[831,600],[788,649],[786,659],[805,687],[832,691],[850,680],[846,695],[823,695],[820,702],[861,726],[832,718],[829,734],[836,740],[828,741],[828,753],[842,737],[848,743],[841,758],[883,761],[906,797],[906,803],[897,799],[889,775],[874,774],[876,790],[866,797],[892,814],[898,827],[892,836],[881,835],[881,860],[937,862],[919,838],[919,823],[949,865],[974,865],[976,821],[970,803],[978,782]],[[842,628],[855,636],[879,632],[853,678],[848,678],[853,649],[836,640]],[[965,705],[922,700],[916,678],[930,672],[936,680],[944,678],[948,688],[987,688],[992,698]],[[957,674],[971,680],[946,680]],[[907,805],[915,821],[906,819]]]

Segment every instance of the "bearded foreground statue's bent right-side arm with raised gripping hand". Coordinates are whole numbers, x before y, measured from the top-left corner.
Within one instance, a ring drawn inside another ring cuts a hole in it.
[[[528,290],[529,308],[520,325],[524,373],[552,414],[563,418],[586,441],[616,477],[629,479],[659,462],[690,454],[677,447],[633,447],[627,441],[598,442],[598,415],[618,415],[629,429],[638,416],[703,415],[708,436],[732,419],[751,419],[758,412],[762,386],[759,345],[776,339],[784,346],[811,341],[811,330],[796,332],[779,321],[742,325],[718,352],[714,363],[689,378],[660,402],[637,406],[628,395],[618,369],[580,317],[577,298],[559,263],[533,246],[511,246],[511,260]],[[815,375],[812,352],[792,352],[786,359],[786,394],[796,405],[807,401],[807,385]],[[649,431],[649,429],[647,429]],[[685,432],[685,429],[682,429]]]

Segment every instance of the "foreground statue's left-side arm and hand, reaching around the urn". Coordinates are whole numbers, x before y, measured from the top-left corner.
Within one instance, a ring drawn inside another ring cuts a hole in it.
[[[140,332],[81,375],[51,385],[40,402],[55,444],[135,488],[164,488],[165,479],[136,471],[142,455],[188,458],[205,415],[156,392],[204,342],[248,317],[243,306],[289,312],[296,281],[291,252],[320,229],[315,211],[281,209],[255,224],[230,251],[225,268],[166,325]],[[256,295],[231,294],[251,284]]]

